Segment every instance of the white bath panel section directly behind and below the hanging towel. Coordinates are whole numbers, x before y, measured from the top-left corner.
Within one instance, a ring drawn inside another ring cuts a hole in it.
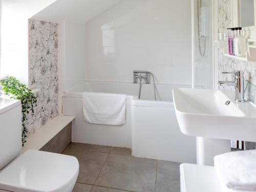
[[[72,141],[131,148],[131,101],[132,97],[130,99],[127,98],[126,124],[117,126],[91,124],[84,121],[82,116],[82,98],[62,98],[63,115],[75,116],[75,120],[72,122]]]

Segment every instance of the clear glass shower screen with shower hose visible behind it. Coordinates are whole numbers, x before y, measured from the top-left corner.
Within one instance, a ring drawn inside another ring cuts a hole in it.
[[[212,0],[193,0],[193,88],[212,89]]]

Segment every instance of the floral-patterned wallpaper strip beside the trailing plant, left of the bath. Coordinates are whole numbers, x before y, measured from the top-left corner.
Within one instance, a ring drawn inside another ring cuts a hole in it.
[[[58,115],[58,25],[29,20],[29,87],[38,89],[29,134]]]

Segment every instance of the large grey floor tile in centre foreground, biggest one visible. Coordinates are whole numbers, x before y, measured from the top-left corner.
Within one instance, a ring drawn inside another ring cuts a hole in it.
[[[110,154],[96,185],[137,192],[155,191],[157,161]]]

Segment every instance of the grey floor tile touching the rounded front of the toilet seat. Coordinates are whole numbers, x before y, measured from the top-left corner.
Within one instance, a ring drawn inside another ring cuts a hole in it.
[[[74,148],[66,148],[63,154],[75,156],[79,161],[79,175],[77,182],[94,184],[101,167],[103,166],[107,153],[84,151]]]

